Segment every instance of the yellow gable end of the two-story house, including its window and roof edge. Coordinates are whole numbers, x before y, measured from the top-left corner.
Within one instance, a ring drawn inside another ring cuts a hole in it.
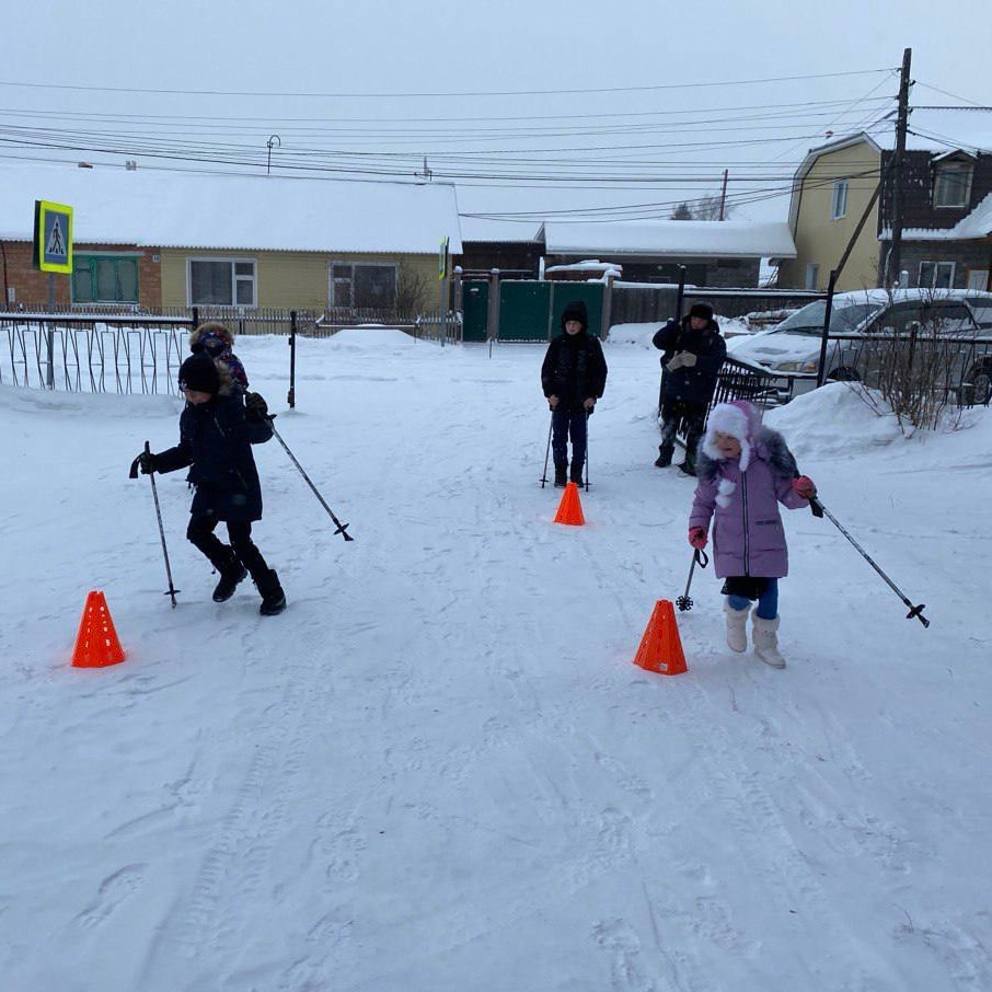
[[[788,223],[796,257],[778,266],[778,286],[824,290],[878,186],[881,147],[861,132],[811,149],[796,171]],[[854,243],[838,290],[864,289],[878,278],[877,205]]]

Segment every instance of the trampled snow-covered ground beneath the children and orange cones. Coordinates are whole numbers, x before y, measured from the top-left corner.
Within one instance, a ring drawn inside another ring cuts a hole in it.
[[[261,618],[183,533],[165,397],[0,389],[3,992],[980,992],[992,988],[992,415],[903,438],[842,384],[770,416],[787,514],[775,671],[632,665],[684,589],[692,482],[653,468],[658,354],[607,345],[587,526],[538,485],[543,347],[399,332],[238,343],[276,426]],[[127,650],[69,665],[86,591]]]

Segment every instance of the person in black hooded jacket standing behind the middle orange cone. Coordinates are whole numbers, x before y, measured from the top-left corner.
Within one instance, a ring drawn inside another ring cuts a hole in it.
[[[581,483],[586,464],[586,425],[607,388],[607,360],[599,338],[589,334],[589,315],[581,300],[562,313],[562,333],[547,346],[541,366],[541,388],[551,407],[551,450],[554,484],[565,485],[568,438],[572,437],[572,482]]]

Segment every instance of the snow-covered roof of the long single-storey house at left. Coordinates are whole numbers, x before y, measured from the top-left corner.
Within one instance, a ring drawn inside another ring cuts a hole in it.
[[[73,208],[77,243],[461,253],[454,187],[96,165],[0,165],[0,238],[30,241],[36,199]]]

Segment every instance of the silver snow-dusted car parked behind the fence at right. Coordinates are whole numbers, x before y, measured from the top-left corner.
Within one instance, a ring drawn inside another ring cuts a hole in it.
[[[727,344],[730,358],[777,373],[781,391],[816,387],[827,302],[797,310],[776,327]],[[827,380],[876,384],[884,347],[913,332],[924,345],[941,341],[950,360],[948,381],[962,403],[992,397],[992,293],[964,289],[868,289],[833,298],[827,345]],[[900,345],[901,346],[901,345]]]

